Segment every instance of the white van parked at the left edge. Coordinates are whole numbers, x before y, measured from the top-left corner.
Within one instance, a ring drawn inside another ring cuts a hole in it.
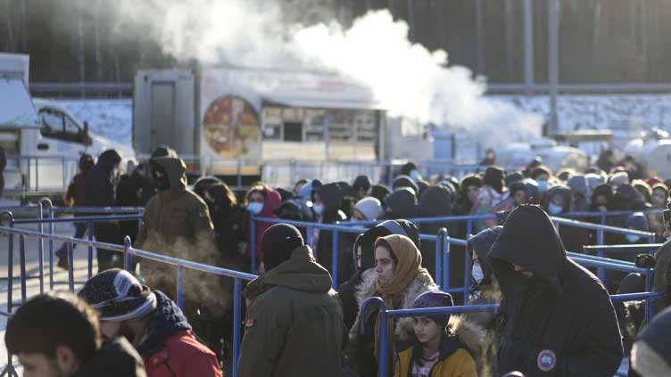
[[[86,122],[56,102],[33,101],[28,70],[28,55],[0,53],[0,146],[7,156],[6,196],[60,195],[77,173],[83,153],[97,157],[115,149],[122,159],[135,160],[131,147],[91,134]]]

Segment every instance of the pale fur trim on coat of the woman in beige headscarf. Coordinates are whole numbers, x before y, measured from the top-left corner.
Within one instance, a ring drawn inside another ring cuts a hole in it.
[[[373,268],[369,268],[368,270],[364,271],[363,274],[361,274],[361,283],[359,286],[357,286],[355,294],[357,304],[359,304],[359,316],[357,316],[356,322],[350,331],[351,337],[357,336],[359,333],[360,316],[362,314],[361,306],[366,299],[376,295],[376,283],[377,275]],[[426,291],[438,291],[438,286],[435,285],[434,279],[431,277],[431,275],[428,275],[427,273],[420,273],[417,275],[414,282],[410,284],[410,287],[408,287],[403,292],[402,304],[401,307],[398,308],[411,309],[415,299],[417,299],[420,294]],[[400,340],[411,340],[414,336],[414,333],[415,330],[412,327],[412,318],[400,318],[398,321],[396,321],[395,334],[397,337],[399,337]]]

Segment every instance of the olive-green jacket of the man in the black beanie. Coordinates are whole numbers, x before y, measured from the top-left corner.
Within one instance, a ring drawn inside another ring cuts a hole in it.
[[[240,377],[341,377],[343,309],[331,276],[301,246],[249,283]]]

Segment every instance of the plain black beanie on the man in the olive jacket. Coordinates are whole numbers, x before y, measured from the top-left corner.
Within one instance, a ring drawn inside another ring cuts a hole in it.
[[[289,260],[291,252],[304,244],[301,232],[294,225],[270,226],[261,237],[261,254],[266,271]]]

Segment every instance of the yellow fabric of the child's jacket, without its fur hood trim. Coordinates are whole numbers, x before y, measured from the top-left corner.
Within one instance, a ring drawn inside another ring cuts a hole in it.
[[[410,347],[399,355],[393,377],[410,377],[412,372]],[[476,362],[464,348],[458,348],[449,357],[439,357],[431,369],[431,377],[477,377]]]

